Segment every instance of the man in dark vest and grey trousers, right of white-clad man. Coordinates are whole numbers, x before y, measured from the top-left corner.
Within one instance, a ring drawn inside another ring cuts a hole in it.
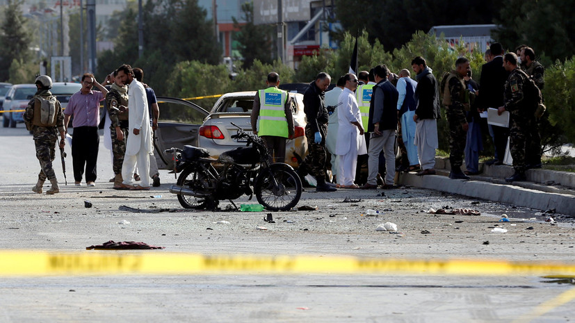
[[[369,122],[367,129],[370,133],[369,150],[367,154],[369,174],[364,189],[377,188],[380,152],[385,156],[385,179],[382,188],[394,187],[396,158],[394,144],[397,131],[397,99],[399,93],[396,87],[387,79],[390,72],[385,65],[373,68],[375,82],[369,106]]]

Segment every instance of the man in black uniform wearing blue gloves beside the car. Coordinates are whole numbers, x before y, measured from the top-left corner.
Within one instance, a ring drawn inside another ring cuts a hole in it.
[[[327,135],[328,114],[325,108],[325,90],[330,86],[331,76],[321,72],[316,76],[316,81],[309,84],[309,88],[303,94],[304,112],[307,117],[305,125],[305,137],[307,138],[308,154],[298,169],[300,176],[305,172],[316,178],[317,192],[334,192],[337,189],[325,183],[325,161],[327,153],[325,149],[325,135]]]

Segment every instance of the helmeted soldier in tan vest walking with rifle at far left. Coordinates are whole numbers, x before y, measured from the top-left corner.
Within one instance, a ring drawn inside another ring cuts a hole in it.
[[[32,191],[42,194],[42,186],[44,181],[48,179],[52,186],[46,191],[46,194],[56,194],[60,192],[60,188],[52,167],[52,161],[56,157],[58,132],[62,138],[60,148],[63,149],[65,146],[64,115],[60,102],[50,92],[52,88],[51,78],[47,75],[40,75],[36,78],[35,84],[38,92],[34,94],[24,113],[26,129],[33,133],[36,158],[40,161],[38,183],[32,188]],[[47,101],[42,103],[42,99]]]

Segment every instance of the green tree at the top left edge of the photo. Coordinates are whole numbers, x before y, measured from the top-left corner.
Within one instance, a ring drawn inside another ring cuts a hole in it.
[[[31,58],[32,34],[26,28],[28,19],[22,15],[22,0],[8,0],[0,30],[0,79],[7,80],[13,60],[26,62]]]

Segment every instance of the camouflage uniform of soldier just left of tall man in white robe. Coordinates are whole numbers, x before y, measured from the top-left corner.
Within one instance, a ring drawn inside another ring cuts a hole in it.
[[[114,174],[122,174],[122,163],[124,163],[124,154],[126,153],[126,140],[129,135],[128,112],[120,113],[115,108],[128,106],[127,87],[113,84],[108,94],[106,94],[106,106],[108,106],[108,115],[110,116],[110,136],[112,138],[112,152],[114,155],[113,170]],[[114,108],[115,107],[115,108]],[[118,140],[116,135],[116,126],[124,133],[124,140]]]

